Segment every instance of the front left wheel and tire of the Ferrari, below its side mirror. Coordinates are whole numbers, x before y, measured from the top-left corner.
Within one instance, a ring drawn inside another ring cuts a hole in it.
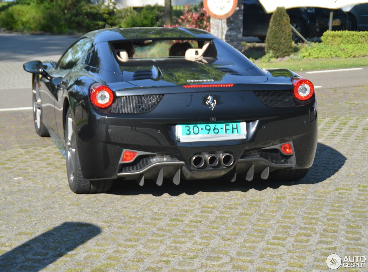
[[[37,76],[37,75],[36,75]],[[49,131],[43,123],[43,114],[41,98],[37,77],[33,80],[32,86],[32,106],[33,106],[33,124],[35,124],[36,133],[41,137],[50,137]]]

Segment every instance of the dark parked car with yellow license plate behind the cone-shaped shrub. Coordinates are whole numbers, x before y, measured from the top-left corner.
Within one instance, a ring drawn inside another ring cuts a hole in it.
[[[330,10],[326,8],[290,8],[291,25],[305,38],[321,37],[328,30]],[[244,0],[243,36],[255,36],[265,40],[272,13],[267,14],[258,0]],[[368,20],[368,18],[367,18]],[[348,30],[350,28],[348,15],[342,10],[333,11],[332,30]],[[300,38],[293,33],[293,40]]]

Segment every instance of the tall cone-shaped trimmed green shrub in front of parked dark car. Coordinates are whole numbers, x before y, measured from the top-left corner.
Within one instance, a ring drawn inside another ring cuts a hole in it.
[[[284,7],[272,14],[266,36],[266,53],[272,51],[276,58],[290,56],[294,52],[290,18]]]

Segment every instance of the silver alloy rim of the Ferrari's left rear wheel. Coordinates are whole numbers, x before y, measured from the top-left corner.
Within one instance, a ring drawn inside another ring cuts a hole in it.
[[[67,160],[67,174],[69,184],[74,181],[75,171],[75,135],[73,131],[73,120],[71,114],[68,114],[65,126],[65,151]]]

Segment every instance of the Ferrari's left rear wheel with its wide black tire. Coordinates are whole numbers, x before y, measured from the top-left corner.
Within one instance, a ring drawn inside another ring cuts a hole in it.
[[[68,109],[66,114],[64,137],[67,175],[70,190],[76,194],[91,194],[109,191],[113,185],[113,180],[89,181],[84,179],[82,175],[70,109]]]

